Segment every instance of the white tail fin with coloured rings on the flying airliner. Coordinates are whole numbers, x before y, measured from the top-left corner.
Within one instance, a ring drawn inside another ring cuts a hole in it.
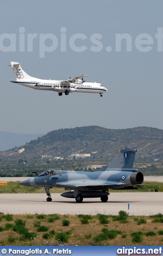
[[[21,63],[18,63],[18,62],[11,62],[11,65],[9,65],[13,69],[15,79],[18,80],[18,81],[31,79],[32,77],[29,76],[28,74],[26,74],[22,70],[20,65],[21,65]]]

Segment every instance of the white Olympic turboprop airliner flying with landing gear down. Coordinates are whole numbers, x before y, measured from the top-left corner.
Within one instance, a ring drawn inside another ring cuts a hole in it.
[[[35,90],[46,90],[58,92],[59,96],[63,93],[68,95],[69,93],[99,93],[107,92],[107,89],[102,86],[101,83],[86,82],[83,80],[88,75],[77,76],[66,80],[43,80],[35,78],[26,74],[22,68],[21,63],[11,62],[11,66],[14,72],[15,80],[11,82],[21,84],[22,86],[30,87]]]

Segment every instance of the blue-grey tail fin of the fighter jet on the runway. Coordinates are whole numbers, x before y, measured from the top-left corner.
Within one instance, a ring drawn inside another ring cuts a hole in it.
[[[130,143],[124,148],[124,150],[121,150],[121,153],[116,156],[110,163],[108,163],[104,169],[131,169],[133,167],[133,161],[136,152],[137,144]]]

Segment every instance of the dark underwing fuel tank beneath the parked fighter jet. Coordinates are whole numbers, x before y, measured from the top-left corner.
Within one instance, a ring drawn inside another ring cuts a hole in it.
[[[66,192],[61,194],[62,197],[66,198],[75,198],[74,197],[74,191]],[[110,195],[110,193],[106,191],[82,191],[81,195],[83,198],[97,198],[97,197],[105,197]]]

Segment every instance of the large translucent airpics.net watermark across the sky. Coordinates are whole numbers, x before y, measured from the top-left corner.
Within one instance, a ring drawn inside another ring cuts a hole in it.
[[[19,34],[3,33],[0,35],[0,51],[33,52],[34,44],[37,44],[40,58],[45,57],[45,52],[53,52],[57,49],[61,52],[66,52],[68,47],[74,52],[84,52],[87,50],[91,50],[92,52],[100,52],[102,50],[106,52],[113,51],[111,46],[103,47],[101,41],[103,36],[99,33],[94,33],[89,37],[83,33],[76,33],[68,38],[66,27],[62,27],[60,32],[60,38],[57,38],[57,36],[52,33],[25,33],[25,28],[20,27]],[[154,39],[148,33],[141,33],[134,39],[128,33],[115,34],[114,39],[115,52],[121,52],[122,44],[125,45],[126,52],[132,52],[133,49],[137,49],[140,52],[149,52],[153,49],[154,44],[157,45],[157,52],[163,51],[163,28],[157,28]],[[90,44],[91,46],[88,47]]]

